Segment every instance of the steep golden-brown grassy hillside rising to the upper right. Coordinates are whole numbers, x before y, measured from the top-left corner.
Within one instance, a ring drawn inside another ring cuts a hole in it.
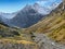
[[[47,17],[37,24],[25,29],[26,33],[43,33],[57,42],[65,41],[65,9],[58,8],[52,11]]]

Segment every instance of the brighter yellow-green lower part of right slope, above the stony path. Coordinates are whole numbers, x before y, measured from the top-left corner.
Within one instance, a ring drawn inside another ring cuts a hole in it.
[[[65,41],[65,13],[63,13],[55,21],[56,21],[56,24],[53,25],[51,28],[49,28],[50,32],[48,32],[47,35],[51,37],[52,39],[54,39],[55,41],[64,44]]]

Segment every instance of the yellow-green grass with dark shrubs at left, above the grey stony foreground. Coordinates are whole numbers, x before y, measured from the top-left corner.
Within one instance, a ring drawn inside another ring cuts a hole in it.
[[[36,45],[31,34],[23,33],[24,28],[9,27],[0,24],[0,42]]]

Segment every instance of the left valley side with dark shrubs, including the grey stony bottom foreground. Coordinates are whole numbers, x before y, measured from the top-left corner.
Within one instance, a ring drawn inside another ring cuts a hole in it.
[[[0,49],[38,49],[38,45],[31,39],[31,34],[22,30],[0,23]]]

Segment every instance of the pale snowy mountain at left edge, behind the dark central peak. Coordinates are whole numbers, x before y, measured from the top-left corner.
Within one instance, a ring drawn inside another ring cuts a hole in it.
[[[14,13],[3,13],[0,12],[0,22],[3,22],[4,24],[9,25],[9,21],[14,17],[14,15],[16,14],[16,12]]]

